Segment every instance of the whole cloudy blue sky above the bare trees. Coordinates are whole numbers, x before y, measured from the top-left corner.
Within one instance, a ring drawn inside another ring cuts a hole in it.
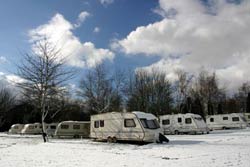
[[[2,85],[21,81],[21,53],[44,36],[82,73],[105,63],[157,68],[171,81],[206,69],[229,91],[250,81],[249,0],[8,0],[0,20]]]

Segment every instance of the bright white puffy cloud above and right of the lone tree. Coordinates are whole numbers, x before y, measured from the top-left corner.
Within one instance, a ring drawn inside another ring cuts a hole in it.
[[[29,31],[30,41],[48,38],[48,41],[61,48],[61,55],[67,64],[76,67],[94,67],[104,60],[113,60],[114,53],[108,49],[98,49],[91,42],[82,43],[73,33],[74,25],[61,14],[56,14],[47,24]]]

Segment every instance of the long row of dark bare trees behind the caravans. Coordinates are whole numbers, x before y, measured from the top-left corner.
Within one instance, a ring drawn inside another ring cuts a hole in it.
[[[46,102],[45,122],[89,120],[101,112],[144,111],[155,115],[196,113],[212,114],[250,112],[250,83],[243,83],[234,94],[220,87],[215,73],[202,70],[194,77],[176,71],[171,82],[160,70],[137,70],[133,73],[109,71],[104,65],[91,69],[79,82],[75,95],[56,90]],[[30,93],[30,92],[28,92]],[[33,92],[34,93],[34,92]],[[14,123],[41,122],[39,106],[33,98],[15,98],[8,88],[0,90],[0,130]]]

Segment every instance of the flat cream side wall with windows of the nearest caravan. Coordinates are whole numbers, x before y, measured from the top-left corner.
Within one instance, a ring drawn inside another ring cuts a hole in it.
[[[144,132],[133,113],[105,113],[91,116],[90,137],[107,140],[115,137],[117,140],[142,141]]]

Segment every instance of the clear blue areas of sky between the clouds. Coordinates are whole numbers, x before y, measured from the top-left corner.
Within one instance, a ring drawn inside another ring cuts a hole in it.
[[[0,56],[9,60],[5,65],[1,64],[0,71],[3,72],[15,71],[12,62],[20,57],[20,51],[30,49],[28,31],[45,24],[56,13],[73,23],[80,12],[89,12],[90,17],[73,33],[81,41],[94,43],[97,48],[108,48],[113,38],[123,38],[136,27],[161,18],[152,12],[158,6],[155,0],[148,0],[147,3],[144,0],[117,0],[109,5],[103,5],[99,0],[9,0],[0,3]],[[95,27],[100,28],[99,33],[93,33]],[[124,68],[127,65],[146,65],[156,59],[149,57],[142,61],[119,54],[114,64],[126,64]]]

